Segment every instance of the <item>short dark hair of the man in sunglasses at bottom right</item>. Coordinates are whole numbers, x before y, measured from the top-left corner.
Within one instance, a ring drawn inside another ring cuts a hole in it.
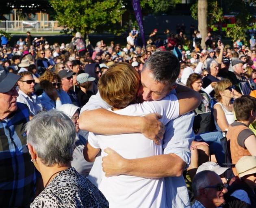
[[[201,171],[195,175],[192,182],[192,189],[195,197],[200,196],[200,189],[203,189],[206,186],[210,185],[210,178],[213,175],[219,176],[217,173],[213,171]]]

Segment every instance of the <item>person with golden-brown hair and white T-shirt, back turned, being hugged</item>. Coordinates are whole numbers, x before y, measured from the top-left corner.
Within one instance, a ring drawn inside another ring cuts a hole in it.
[[[125,79],[123,79],[125,77]],[[179,113],[187,113],[189,106],[182,105],[185,100],[177,101],[174,94],[167,95],[160,101],[135,102],[139,89],[139,74],[127,63],[111,66],[98,82],[102,99],[111,108],[108,111],[120,115],[143,116],[149,113],[163,115],[161,121],[167,124]],[[180,96],[180,95],[178,95]],[[121,101],[120,101],[121,100]],[[128,106],[128,104],[131,104]],[[183,106],[179,108],[179,104]],[[143,158],[162,154],[161,145],[147,139],[143,134],[100,135],[89,133],[87,149],[84,154],[88,162],[93,162],[100,149],[111,147],[121,156],[128,159]],[[102,152],[102,156],[106,156]],[[102,171],[101,171],[102,172]],[[111,207],[167,207],[164,190],[164,179],[142,178],[136,176],[114,176],[107,178],[102,172],[100,190],[108,199]]]

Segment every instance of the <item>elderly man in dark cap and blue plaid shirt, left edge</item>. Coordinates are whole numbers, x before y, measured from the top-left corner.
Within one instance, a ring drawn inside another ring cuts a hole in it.
[[[0,66],[0,207],[28,207],[35,193],[24,132],[29,110],[16,102],[19,78]]]

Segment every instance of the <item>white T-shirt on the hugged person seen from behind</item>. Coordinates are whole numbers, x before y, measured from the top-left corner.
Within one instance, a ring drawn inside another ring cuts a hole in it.
[[[111,111],[111,109],[108,109]],[[178,99],[168,95],[159,101],[148,101],[142,104],[132,104],[124,109],[114,111],[120,115],[143,116],[149,113],[159,113],[163,124],[179,115]],[[118,127],[117,127],[118,128]],[[100,135],[89,133],[88,142],[94,148],[101,150],[110,147],[127,159],[144,158],[163,154],[162,145],[147,139],[140,133]],[[102,156],[106,153],[102,151]],[[109,202],[110,207],[167,207],[164,178],[141,178],[119,175],[105,177],[101,170],[102,180],[99,186]]]

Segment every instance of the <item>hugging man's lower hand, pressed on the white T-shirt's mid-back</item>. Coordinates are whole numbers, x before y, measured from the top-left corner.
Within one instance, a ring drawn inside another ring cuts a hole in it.
[[[106,177],[118,176],[124,172],[126,160],[120,156],[115,150],[106,148],[104,150],[108,155],[102,157],[102,170]]]

